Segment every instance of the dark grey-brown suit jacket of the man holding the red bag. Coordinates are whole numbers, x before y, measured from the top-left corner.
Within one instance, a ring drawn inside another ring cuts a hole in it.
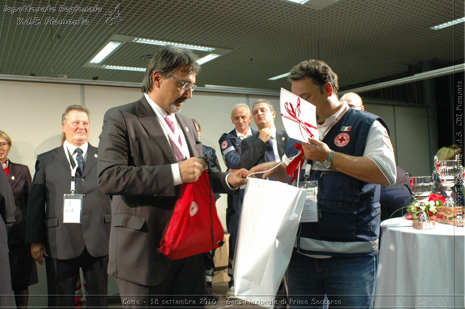
[[[179,113],[176,118],[191,157],[203,157],[193,121]],[[142,285],[161,283],[170,260],[157,249],[180,185],[173,185],[173,149],[145,97],[106,112],[99,149],[100,188],[113,195],[108,274]],[[225,189],[226,174],[210,172],[214,192],[233,192]]]

